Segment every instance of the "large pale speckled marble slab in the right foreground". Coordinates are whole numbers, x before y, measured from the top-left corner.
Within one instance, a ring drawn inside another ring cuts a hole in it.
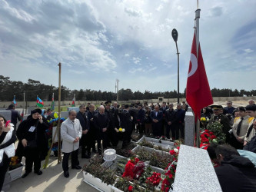
[[[222,191],[206,150],[181,145],[173,191]]]

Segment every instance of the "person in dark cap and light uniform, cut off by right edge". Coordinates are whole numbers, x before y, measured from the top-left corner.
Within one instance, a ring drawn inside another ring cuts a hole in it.
[[[253,128],[253,122],[256,119],[256,105],[248,105],[245,107],[246,112],[249,116],[253,118],[251,123],[248,125],[248,131],[246,133],[246,136],[244,138],[244,145],[248,144],[249,141],[251,141],[251,138],[255,136],[255,130]]]

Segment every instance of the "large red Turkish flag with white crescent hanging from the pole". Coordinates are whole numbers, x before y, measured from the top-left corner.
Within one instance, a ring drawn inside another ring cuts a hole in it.
[[[207,107],[210,104],[213,104],[211,90],[204,68],[204,60],[203,56],[201,55],[200,44],[198,48],[197,58],[195,31],[191,47],[191,58],[188,69],[186,99],[188,104],[194,111],[195,121],[201,117],[202,108]]]

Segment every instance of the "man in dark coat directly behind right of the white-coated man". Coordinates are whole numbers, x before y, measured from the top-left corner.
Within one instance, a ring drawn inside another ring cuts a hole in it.
[[[79,112],[76,114],[76,118],[80,121],[82,134],[81,134],[81,158],[90,158],[91,157],[91,147],[88,142],[88,119],[85,114],[86,106],[85,104],[81,104],[79,107]],[[87,147],[87,149],[86,149]],[[88,154],[86,154],[86,151]]]

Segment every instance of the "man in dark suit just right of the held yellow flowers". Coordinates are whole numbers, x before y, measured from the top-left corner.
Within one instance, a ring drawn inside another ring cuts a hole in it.
[[[121,112],[121,128],[125,129],[125,141],[123,147],[125,147],[131,141],[131,114],[129,113],[129,105],[125,104],[125,109]]]

